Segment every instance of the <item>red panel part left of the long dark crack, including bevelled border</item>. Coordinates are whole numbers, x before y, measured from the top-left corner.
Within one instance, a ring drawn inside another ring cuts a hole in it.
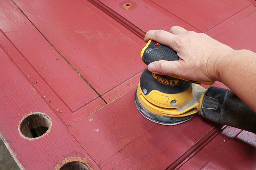
[[[2,24],[1,45],[68,126],[105,105],[12,2],[4,1],[2,7],[1,23],[12,20]]]

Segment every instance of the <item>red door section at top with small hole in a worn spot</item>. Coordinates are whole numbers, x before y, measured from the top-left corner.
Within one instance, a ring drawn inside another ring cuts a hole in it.
[[[150,29],[168,31],[173,25],[205,32],[252,4],[248,0],[100,1],[146,32]]]

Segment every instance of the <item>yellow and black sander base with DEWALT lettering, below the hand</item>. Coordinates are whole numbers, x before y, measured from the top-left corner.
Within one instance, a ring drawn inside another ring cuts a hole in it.
[[[135,102],[147,119],[163,125],[176,125],[191,119],[200,111],[205,91],[197,84],[151,73],[146,69],[142,73]]]

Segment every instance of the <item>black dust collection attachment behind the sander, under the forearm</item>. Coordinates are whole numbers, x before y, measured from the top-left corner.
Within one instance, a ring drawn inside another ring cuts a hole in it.
[[[229,89],[209,87],[199,114],[216,123],[256,133],[256,113]]]

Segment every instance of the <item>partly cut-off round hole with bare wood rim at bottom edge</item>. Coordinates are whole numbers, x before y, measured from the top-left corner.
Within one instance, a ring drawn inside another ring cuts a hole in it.
[[[86,158],[68,157],[55,166],[54,170],[94,170]]]

